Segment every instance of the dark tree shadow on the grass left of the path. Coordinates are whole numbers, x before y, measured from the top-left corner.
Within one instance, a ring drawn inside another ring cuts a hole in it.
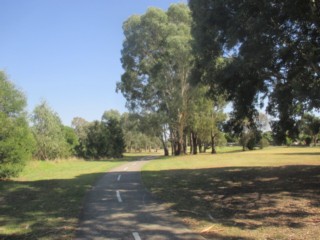
[[[0,239],[72,239],[83,198],[104,173],[73,179],[0,181]],[[10,228],[15,234],[4,233]]]

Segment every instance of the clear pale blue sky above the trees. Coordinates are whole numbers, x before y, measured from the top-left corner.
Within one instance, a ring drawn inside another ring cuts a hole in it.
[[[123,73],[122,23],[149,7],[186,0],[0,0],[0,70],[27,96],[46,100],[65,125],[127,111],[116,93]]]

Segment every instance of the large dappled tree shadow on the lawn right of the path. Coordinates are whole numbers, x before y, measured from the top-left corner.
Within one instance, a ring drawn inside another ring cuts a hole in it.
[[[320,217],[320,166],[146,171],[143,178],[181,216],[224,227],[306,230]]]

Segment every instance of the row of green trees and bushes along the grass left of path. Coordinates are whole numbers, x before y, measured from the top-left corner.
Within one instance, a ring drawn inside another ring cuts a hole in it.
[[[32,157],[54,160],[122,157],[125,150],[120,117],[107,111],[101,121],[75,118],[64,126],[46,102],[28,115],[26,97],[0,71],[0,179],[18,176]]]

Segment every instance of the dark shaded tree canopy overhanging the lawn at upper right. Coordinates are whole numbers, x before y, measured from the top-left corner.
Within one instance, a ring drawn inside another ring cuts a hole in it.
[[[227,91],[239,123],[254,125],[255,108],[268,97],[278,139],[294,136],[297,116],[320,108],[319,1],[190,0],[189,6],[197,79],[214,93]]]

